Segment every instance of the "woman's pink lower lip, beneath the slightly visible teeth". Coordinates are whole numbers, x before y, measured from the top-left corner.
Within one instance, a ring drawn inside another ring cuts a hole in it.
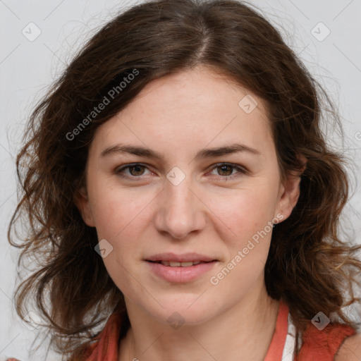
[[[161,263],[149,262],[150,269],[159,276],[161,279],[164,279],[169,282],[176,282],[176,283],[184,283],[194,281],[198,277],[202,276],[202,274],[207,273],[210,271],[216,261],[212,262],[204,262],[195,264],[195,266],[190,267],[170,267],[164,266]]]

